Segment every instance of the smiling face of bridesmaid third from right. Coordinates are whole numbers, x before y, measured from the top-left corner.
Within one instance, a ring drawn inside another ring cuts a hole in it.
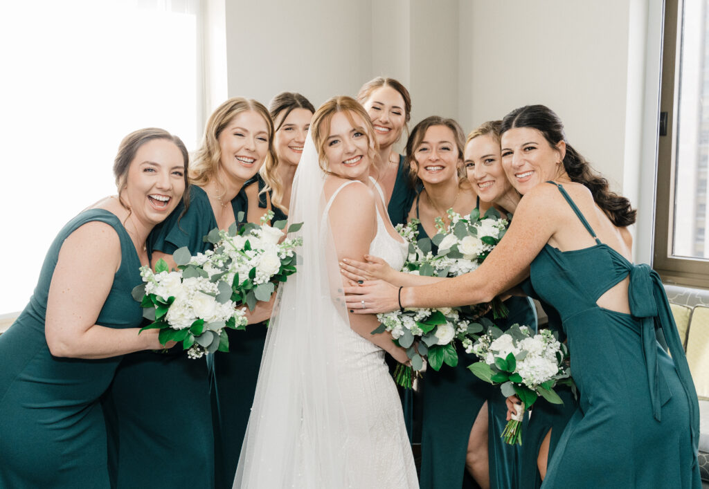
[[[413,152],[417,176],[425,184],[438,184],[457,179],[462,163],[458,157],[453,131],[445,125],[432,125],[426,129],[421,142]]]

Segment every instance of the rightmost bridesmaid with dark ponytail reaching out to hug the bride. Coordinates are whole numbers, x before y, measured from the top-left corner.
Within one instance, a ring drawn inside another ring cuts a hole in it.
[[[503,167],[523,198],[485,263],[435,287],[346,287],[348,307],[481,302],[529,275],[562,317],[579,388],[542,488],[699,489],[696,390],[659,276],[630,262],[635,210],[566,142],[549,108],[516,109],[501,133]]]

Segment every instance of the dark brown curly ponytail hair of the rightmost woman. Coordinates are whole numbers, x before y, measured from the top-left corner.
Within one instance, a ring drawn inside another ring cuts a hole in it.
[[[503,118],[500,133],[502,135],[513,128],[536,129],[552,147],[560,141],[566,142],[562,120],[547,106],[532,105],[515,108]],[[593,170],[586,158],[574,150],[568,142],[566,142],[563,163],[564,170],[569,174],[571,181],[582,184],[591,191],[593,201],[603,209],[614,225],[625,227],[635,223],[637,211],[630,206],[630,201],[610,191],[608,180]]]

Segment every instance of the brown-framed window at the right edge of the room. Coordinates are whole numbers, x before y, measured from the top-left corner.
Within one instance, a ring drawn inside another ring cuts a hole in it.
[[[709,286],[709,1],[667,0],[654,268],[670,283]]]

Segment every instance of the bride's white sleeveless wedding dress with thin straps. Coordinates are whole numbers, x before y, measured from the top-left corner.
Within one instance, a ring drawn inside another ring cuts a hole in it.
[[[324,214],[328,215],[337,193],[354,181],[342,184],[330,197]],[[378,185],[376,190],[384,195]],[[391,268],[401,270],[408,254],[408,244],[389,235],[384,218],[376,210],[376,235],[369,245],[369,254],[384,259]],[[365,432],[365,444],[356,436],[348,440],[347,461],[354,467],[372,471],[379,488],[418,488],[418,478],[411,452],[411,443],[403,422],[401,402],[396,385],[384,361],[384,350],[352,330],[348,322],[333,325],[336,331],[338,357],[342,359],[340,384],[347,396],[348,432]],[[374,446],[370,443],[374,442]]]

